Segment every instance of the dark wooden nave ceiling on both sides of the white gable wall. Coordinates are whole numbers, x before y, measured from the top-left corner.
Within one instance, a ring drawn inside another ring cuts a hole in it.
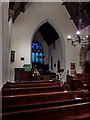
[[[25,12],[26,6],[30,2],[9,2],[9,19],[12,17],[13,22],[21,12]],[[82,30],[90,25],[90,1],[89,2],[64,2],[67,11],[70,14],[70,20],[73,20],[77,29]],[[82,23],[79,25],[79,20]]]

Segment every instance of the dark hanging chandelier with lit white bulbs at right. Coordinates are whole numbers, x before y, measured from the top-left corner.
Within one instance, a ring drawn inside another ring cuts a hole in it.
[[[82,20],[82,18],[81,18],[81,8],[80,8],[80,6],[79,6],[79,20],[78,20],[78,30],[79,31],[77,31],[76,32],[76,37],[75,38],[72,38],[70,35],[68,35],[68,38],[67,38],[67,40],[68,40],[68,42],[71,42],[71,44],[73,45],[73,46],[76,46],[76,44],[89,44],[89,38],[88,38],[88,35],[84,35],[84,36],[81,36],[80,35],[80,29],[81,29],[81,26],[84,28],[84,33],[86,32],[86,30],[85,30],[85,26],[84,26],[84,24],[83,24],[83,20]]]

